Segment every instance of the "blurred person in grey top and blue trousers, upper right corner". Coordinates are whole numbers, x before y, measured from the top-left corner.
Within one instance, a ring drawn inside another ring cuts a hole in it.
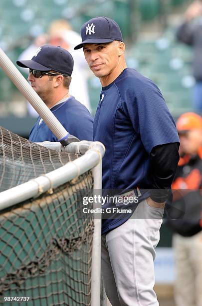
[[[192,2],[187,8],[176,35],[178,40],[194,48],[193,74],[196,84],[193,89],[193,107],[202,114],[202,0]]]

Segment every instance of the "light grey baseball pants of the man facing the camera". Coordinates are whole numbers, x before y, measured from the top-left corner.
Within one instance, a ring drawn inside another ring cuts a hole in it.
[[[158,306],[153,289],[155,247],[164,208],[138,204],[122,225],[102,235],[101,271],[112,306]]]

